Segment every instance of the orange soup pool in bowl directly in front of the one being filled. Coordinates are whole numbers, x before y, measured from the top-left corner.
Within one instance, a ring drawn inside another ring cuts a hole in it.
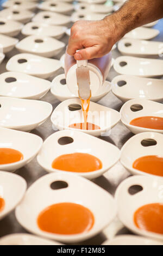
[[[52,168],[67,172],[86,173],[102,168],[102,162],[96,156],[86,153],[73,153],[58,156],[52,163]]]

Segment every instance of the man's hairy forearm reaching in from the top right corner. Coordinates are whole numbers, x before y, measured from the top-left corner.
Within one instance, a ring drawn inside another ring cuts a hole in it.
[[[116,13],[104,18],[114,21],[117,40],[136,27],[163,17],[163,0],[128,0]],[[112,23],[112,22],[111,22]]]

